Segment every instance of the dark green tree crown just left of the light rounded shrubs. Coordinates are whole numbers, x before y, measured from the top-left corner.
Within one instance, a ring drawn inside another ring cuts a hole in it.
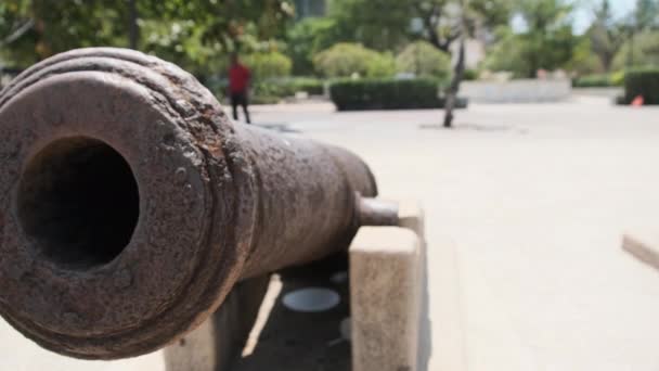
[[[312,74],[313,56],[339,40],[336,21],[333,18],[306,18],[296,23],[286,35],[287,51],[293,59],[294,73]]]

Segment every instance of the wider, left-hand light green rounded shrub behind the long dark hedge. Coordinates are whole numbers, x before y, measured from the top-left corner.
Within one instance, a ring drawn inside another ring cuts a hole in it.
[[[337,43],[318,53],[313,65],[325,77],[348,77],[353,74],[386,77],[391,76],[396,68],[391,55],[348,42]]]

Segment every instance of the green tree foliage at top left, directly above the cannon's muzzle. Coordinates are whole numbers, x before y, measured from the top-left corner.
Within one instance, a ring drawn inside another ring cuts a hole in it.
[[[0,57],[27,67],[74,48],[128,47],[132,21],[128,4],[124,0],[2,0]],[[219,73],[225,66],[221,60],[231,51],[272,49],[270,40],[283,36],[294,15],[289,0],[135,0],[135,5],[139,49],[197,75]],[[22,25],[29,27],[14,39]]]

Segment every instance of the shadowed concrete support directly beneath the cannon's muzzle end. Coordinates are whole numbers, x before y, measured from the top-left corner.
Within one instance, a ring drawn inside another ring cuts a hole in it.
[[[206,322],[165,348],[167,371],[223,371],[243,351],[270,276],[238,283]]]

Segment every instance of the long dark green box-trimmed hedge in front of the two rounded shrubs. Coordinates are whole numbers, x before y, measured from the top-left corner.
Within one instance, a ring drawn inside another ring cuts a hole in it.
[[[437,79],[356,79],[330,86],[330,95],[339,111],[441,108]],[[458,100],[458,107],[466,106]]]

